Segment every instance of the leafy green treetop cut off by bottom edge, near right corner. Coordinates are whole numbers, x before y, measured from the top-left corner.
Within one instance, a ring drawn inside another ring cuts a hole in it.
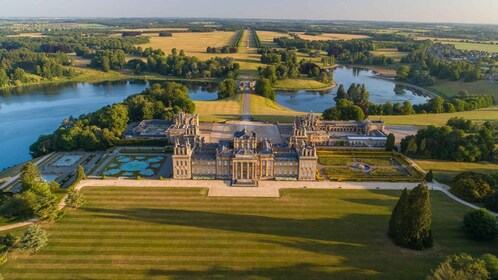
[[[448,257],[442,262],[428,280],[487,280],[489,271],[486,263],[467,254]]]

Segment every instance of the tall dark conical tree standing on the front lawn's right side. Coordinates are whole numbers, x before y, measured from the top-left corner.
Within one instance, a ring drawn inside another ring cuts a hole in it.
[[[416,250],[432,247],[429,189],[419,184],[406,198],[403,192],[391,216],[389,235],[398,246]]]

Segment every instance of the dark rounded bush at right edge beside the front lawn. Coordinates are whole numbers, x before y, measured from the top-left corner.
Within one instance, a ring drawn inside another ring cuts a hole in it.
[[[486,209],[472,210],[463,217],[463,230],[478,241],[493,240],[498,234],[495,216]]]

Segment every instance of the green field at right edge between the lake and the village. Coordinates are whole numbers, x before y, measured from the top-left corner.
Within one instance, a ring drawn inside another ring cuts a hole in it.
[[[444,98],[454,97],[458,92],[465,90],[470,94],[491,94],[495,100],[498,100],[498,82],[494,81],[481,80],[465,83],[462,81],[438,80],[435,85],[425,88],[434,91]]]

